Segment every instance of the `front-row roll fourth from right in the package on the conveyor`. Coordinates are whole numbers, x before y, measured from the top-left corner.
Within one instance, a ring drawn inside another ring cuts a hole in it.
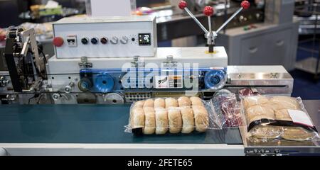
[[[168,112],[166,109],[156,109],[156,134],[165,134],[169,128]]]

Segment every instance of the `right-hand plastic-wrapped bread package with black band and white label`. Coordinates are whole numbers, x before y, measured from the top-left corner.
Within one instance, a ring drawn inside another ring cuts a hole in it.
[[[241,107],[250,142],[319,140],[301,98],[241,96]]]

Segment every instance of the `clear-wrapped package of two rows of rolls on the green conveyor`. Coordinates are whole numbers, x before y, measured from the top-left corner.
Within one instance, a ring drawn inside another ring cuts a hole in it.
[[[197,96],[134,102],[125,128],[125,132],[134,135],[191,134],[221,129],[213,105]]]

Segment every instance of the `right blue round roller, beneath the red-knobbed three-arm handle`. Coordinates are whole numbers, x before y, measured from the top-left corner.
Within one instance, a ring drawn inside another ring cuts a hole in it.
[[[220,90],[225,86],[225,73],[220,70],[206,72],[204,78],[206,89]]]

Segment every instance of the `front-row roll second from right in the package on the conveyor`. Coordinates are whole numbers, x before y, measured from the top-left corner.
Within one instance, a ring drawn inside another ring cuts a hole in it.
[[[191,133],[194,130],[194,115],[192,108],[181,108],[182,130],[181,133]]]

